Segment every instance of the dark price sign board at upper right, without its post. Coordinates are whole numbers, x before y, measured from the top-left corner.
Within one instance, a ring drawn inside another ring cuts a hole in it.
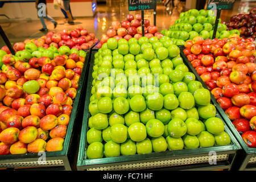
[[[208,0],[207,10],[232,10],[235,0]]]

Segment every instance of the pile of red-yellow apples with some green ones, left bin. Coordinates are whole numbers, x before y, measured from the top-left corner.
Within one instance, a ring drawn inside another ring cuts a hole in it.
[[[86,52],[41,39],[0,50],[0,155],[63,150]]]

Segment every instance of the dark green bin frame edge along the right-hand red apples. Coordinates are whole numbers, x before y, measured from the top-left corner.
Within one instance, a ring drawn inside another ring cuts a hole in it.
[[[199,80],[204,88],[207,88],[207,86],[204,84],[203,80],[199,76],[199,74],[196,72],[195,68],[192,67],[192,64],[187,59],[187,56],[183,53],[183,50],[185,49],[184,46],[180,47],[180,56],[183,58],[185,64],[189,66],[189,69],[195,74],[196,79]],[[234,166],[232,169],[235,170],[255,170],[256,169],[256,148],[248,147],[247,144],[243,141],[240,133],[236,130],[234,127],[232,121],[228,118],[228,116],[225,114],[225,111],[221,108],[221,106],[218,104],[214,96],[211,94],[211,100],[216,106],[216,109],[218,110],[218,113],[220,113],[221,117],[224,119],[226,125],[228,125],[229,129],[232,131],[233,135],[236,137],[237,141],[240,143],[243,150],[238,152],[237,158],[234,161]]]

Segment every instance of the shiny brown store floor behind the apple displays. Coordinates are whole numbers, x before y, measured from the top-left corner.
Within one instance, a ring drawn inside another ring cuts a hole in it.
[[[159,30],[168,29],[175,20],[179,18],[181,11],[185,11],[185,4],[179,1],[174,1],[176,7],[166,10],[163,5],[158,5],[156,9],[156,26]],[[256,2],[243,2],[236,1],[233,10],[225,10],[221,13],[222,20],[228,20],[230,16],[237,13],[247,13],[251,7],[255,6]],[[72,7],[71,7],[72,8]],[[139,11],[130,11],[135,15]],[[53,24],[46,20],[49,31],[60,31],[63,29],[73,30],[77,25],[81,25],[89,32],[94,32],[96,37],[100,39],[114,20],[125,20],[126,15],[129,14],[126,0],[107,0],[106,4],[98,4],[94,17],[75,17],[75,24],[69,25],[65,23],[64,17],[55,18],[58,25],[53,29]],[[154,24],[154,15],[152,10],[145,11],[145,19],[149,19],[151,24]],[[40,20],[22,20],[19,22],[0,22],[3,30],[6,32],[7,37],[11,43],[23,42],[25,39],[39,38],[45,35],[45,32],[40,32],[42,28]],[[3,40],[0,40],[0,46],[5,46]]]

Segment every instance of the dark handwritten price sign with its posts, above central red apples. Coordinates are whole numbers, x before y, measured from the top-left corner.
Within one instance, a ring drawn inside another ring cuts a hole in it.
[[[144,36],[144,10],[154,10],[154,25],[156,25],[156,0],[128,0],[129,11],[141,10],[142,36]]]

